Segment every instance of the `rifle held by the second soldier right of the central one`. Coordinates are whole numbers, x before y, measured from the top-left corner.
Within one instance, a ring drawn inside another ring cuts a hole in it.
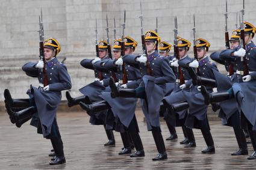
[[[178,24],[177,24],[177,17],[176,16],[174,18],[174,29],[173,29],[173,31],[174,31],[174,41],[173,41],[174,56],[175,56],[176,59],[180,60],[178,40],[177,40]],[[178,66],[176,71],[180,75],[180,85],[183,85],[185,83],[185,80],[184,80],[183,73],[181,71],[181,66]]]

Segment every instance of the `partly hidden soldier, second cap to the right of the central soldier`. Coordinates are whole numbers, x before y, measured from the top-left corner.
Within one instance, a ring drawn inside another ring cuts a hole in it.
[[[187,52],[189,51],[190,46],[191,46],[191,43],[189,41],[187,41],[184,38],[178,37],[178,49],[179,49],[179,55],[180,55],[181,61],[185,60],[187,62],[192,62],[192,59],[190,59],[189,56],[187,55]],[[195,62],[193,62],[193,64],[194,63]],[[167,102],[165,103],[166,106],[172,103],[179,102],[181,100],[180,97],[182,96],[183,91],[190,91],[190,85],[192,83],[192,79],[187,69],[181,68],[182,75],[184,77],[184,82],[185,82],[183,85],[181,85],[180,83],[181,75],[178,70],[179,65],[178,65],[178,60],[176,58],[173,58],[172,61],[169,61],[169,64],[170,64],[170,67],[172,67],[173,70],[175,70],[177,79],[176,79],[175,87],[173,88],[172,93],[164,97],[165,100],[163,102]],[[190,64],[190,66],[198,67],[197,64],[194,64],[194,65],[193,64]],[[195,137],[192,129],[184,126],[186,118],[187,118],[187,110],[165,115],[165,119],[170,124],[172,124],[173,126],[182,127],[185,139],[181,141],[180,144],[187,144],[185,147],[196,147]]]

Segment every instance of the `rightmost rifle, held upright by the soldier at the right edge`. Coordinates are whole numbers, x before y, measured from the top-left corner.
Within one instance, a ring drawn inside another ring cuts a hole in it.
[[[243,23],[243,16],[245,15],[245,0],[243,0],[243,9],[241,10],[241,40],[240,40],[240,46],[243,47],[243,49],[246,49],[246,42],[245,42],[245,25]],[[243,75],[246,76],[249,74],[248,65],[245,59],[245,56],[241,57],[241,61],[243,61]]]

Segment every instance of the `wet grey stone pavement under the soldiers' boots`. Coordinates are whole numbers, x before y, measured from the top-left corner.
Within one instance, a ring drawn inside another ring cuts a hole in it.
[[[196,148],[183,148],[182,130],[177,127],[178,140],[166,141],[168,159],[153,162],[156,156],[154,139],[146,131],[143,115],[137,113],[140,135],[145,148],[145,157],[130,158],[119,156],[122,148],[119,133],[114,132],[116,147],[104,147],[107,136],[103,126],[89,124],[86,112],[59,112],[58,124],[64,142],[66,164],[49,166],[51,142],[36,133],[28,123],[18,129],[10,123],[5,112],[0,112],[0,169],[254,169],[255,160],[247,156],[231,156],[237,150],[236,139],[231,127],[220,125],[220,121],[210,123],[211,133],[216,146],[216,154],[201,154],[205,142],[199,130],[194,130]],[[164,138],[169,132],[161,121]],[[249,153],[252,146],[249,144]]]

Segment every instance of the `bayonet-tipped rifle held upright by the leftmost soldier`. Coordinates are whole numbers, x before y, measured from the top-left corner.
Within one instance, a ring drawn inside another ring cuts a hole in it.
[[[43,69],[40,71],[43,72],[43,86],[46,87],[48,85],[48,76],[46,73],[45,65],[45,52],[44,52],[44,40],[45,40],[45,33],[43,32],[43,13],[41,9],[41,17],[39,15],[39,58],[43,59]]]

